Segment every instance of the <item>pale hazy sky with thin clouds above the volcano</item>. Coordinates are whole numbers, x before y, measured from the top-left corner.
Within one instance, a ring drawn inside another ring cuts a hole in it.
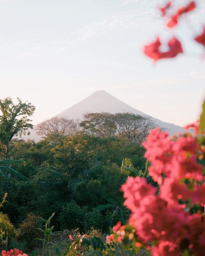
[[[0,0],[0,98],[36,106],[33,123],[105,90],[163,121],[198,118],[205,97],[205,1],[168,30],[164,0]],[[174,2],[174,1],[173,1]],[[175,2],[180,3],[180,0]],[[185,2],[185,1],[183,1]],[[176,35],[185,55],[153,64],[142,53],[157,35]]]

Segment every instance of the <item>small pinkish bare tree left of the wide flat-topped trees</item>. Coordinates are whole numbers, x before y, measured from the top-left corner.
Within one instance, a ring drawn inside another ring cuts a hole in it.
[[[62,135],[73,135],[80,130],[79,119],[68,119],[64,117],[53,117],[42,123],[36,128],[36,133],[47,136],[49,133],[62,133]]]

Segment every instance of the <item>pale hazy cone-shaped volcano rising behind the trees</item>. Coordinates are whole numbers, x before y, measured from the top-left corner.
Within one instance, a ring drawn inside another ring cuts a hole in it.
[[[83,114],[96,112],[109,112],[111,114],[119,112],[131,112],[134,114],[140,114],[142,116],[150,117],[153,121],[155,121],[155,124],[157,126],[165,128],[169,131],[171,135],[184,131],[184,129],[180,126],[177,126],[173,123],[163,122],[157,118],[151,117],[150,115],[135,109],[134,107],[131,107],[130,105],[118,100],[116,97],[112,96],[106,91],[94,92],[84,100],[57,114],[55,117],[65,117],[68,119],[82,120]],[[34,126],[34,129],[35,127],[36,126]],[[26,136],[26,139],[34,139],[35,141],[39,141],[41,137],[36,135],[35,131],[32,130],[31,134],[29,136]]]

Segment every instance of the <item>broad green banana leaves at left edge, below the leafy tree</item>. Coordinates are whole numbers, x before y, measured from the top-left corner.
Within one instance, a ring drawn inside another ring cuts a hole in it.
[[[12,164],[23,164],[23,161],[13,159],[0,160],[0,176],[7,179],[10,178],[12,174],[14,177],[25,180],[26,177],[23,174],[11,168]]]

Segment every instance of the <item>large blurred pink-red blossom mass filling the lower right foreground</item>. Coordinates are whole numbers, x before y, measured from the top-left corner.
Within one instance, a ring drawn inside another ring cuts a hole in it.
[[[159,128],[152,130],[144,142],[145,157],[151,162],[149,174],[161,185],[159,194],[145,178],[129,177],[122,185],[124,205],[131,210],[129,224],[142,244],[153,241],[153,256],[178,256],[184,250],[201,256],[205,251],[204,217],[200,212],[189,214],[189,206],[197,204],[200,209],[205,204],[203,166],[197,162],[201,148],[196,141],[189,133],[171,138]],[[187,178],[188,185],[183,182]],[[117,224],[113,230],[119,229]]]

